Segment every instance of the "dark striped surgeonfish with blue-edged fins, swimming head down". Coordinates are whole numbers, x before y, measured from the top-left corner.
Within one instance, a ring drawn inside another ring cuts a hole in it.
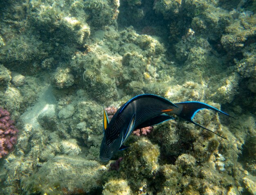
[[[123,144],[133,130],[174,119],[166,113],[175,114],[204,128],[193,121],[195,114],[204,108],[229,116],[229,114],[202,102],[188,101],[173,104],[171,101],[153,94],[141,94],[130,99],[117,110],[110,122],[103,108],[104,135],[100,148],[100,160],[107,162],[115,152],[128,148],[129,146],[124,146]],[[207,128],[204,129],[211,131]],[[219,134],[217,135],[220,136]],[[225,137],[222,138],[226,139]]]

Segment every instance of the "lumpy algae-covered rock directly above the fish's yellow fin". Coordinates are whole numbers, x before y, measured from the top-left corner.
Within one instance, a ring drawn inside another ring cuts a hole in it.
[[[76,72],[76,77],[81,81],[81,87],[94,96],[94,100],[101,103],[117,98],[120,65],[118,58],[105,54],[105,51],[98,48],[88,55],[74,56],[71,62],[72,70]]]

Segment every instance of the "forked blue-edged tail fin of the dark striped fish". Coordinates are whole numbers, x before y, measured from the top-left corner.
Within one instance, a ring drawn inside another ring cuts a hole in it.
[[[177,114],[177,116],[185,119],[186,121],[189,121],[201,128],[204,128],[210,132],[213,132],[203,126],[200,126],[199,124],[195,123],[193,121],[193,118],[195,116],[195,114],[199,111],[199,110],[202,110],[202,109],[209,109],[209,110],[214,110],[216,112],[220,112],[222,114],[225,114],[227,116],[229,116],[229,114],[225,113],[225,112],[222,112],[221,110],[218,110],[217,108],[214,108],[212,107],[211,105],[208,105],[206,103],[202,103],[202,102],[198,102],[198,101],[188,101],[188,102],[181,102],[181,103],[175,103],[175,105],[177,105],[178,107],[182,107],[182,110],[180,112],[180,114]],[[229,116],[231,117],[231,116]],[[233,117],[231,117],[233,118]],[[213,132],[214,134],[222,137],[221,135],[217,134],[216,132]],[[227,139],[225,137],[222,137],[223,139]]]

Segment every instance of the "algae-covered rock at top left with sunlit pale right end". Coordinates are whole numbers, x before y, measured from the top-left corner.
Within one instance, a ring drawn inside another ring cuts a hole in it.
[[[40,30],[41,38],[49,41],[49,37],[54,37],[55,44],[63,41],[83,44],[90,36],[90,27],[86,23],[88,16],[83,10],[83,2],[50,0],[41,3],[32,0],[29,3],[30,25]]]

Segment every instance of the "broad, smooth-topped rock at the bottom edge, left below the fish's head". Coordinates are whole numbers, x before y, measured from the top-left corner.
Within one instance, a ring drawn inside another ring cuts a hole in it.
[[[107,168],[97,161],[81,157],[57,156],[50,159],[31,177],[22,179],[22,191],[34,193],[96,193],[104,183]]]

